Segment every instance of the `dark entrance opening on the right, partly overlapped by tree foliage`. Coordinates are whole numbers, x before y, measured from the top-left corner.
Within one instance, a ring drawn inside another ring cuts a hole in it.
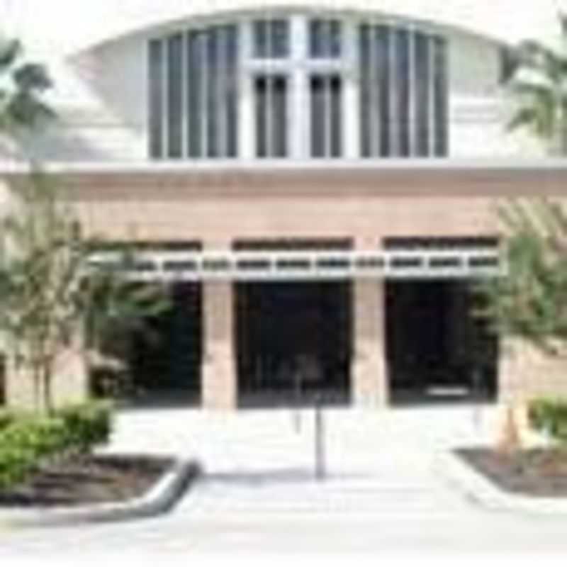
[[[464,280],[386,283],[386,356],[394,402],[493,400],[498,339],[473,315]]]

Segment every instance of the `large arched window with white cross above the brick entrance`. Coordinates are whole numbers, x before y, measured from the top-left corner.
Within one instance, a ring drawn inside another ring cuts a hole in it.
[[[447,40],[301,13],[170,33],[148,46],[154,159],[443,157]]]

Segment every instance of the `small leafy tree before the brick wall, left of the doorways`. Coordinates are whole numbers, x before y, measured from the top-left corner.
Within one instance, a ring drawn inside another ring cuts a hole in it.
[[[96,345],[108,328],[159,313],[167,301],[156,286],[135,286],[122,270],[93,264],[103,241],[84,235],[45,174],[34,172],[13,192],[0,230],[0,333],[33,379],[36,406],[50,411],[57,360],[76,337]],[[118,254],[128,268],[128,251]],[[87,346],[83,340],[83,354]]]

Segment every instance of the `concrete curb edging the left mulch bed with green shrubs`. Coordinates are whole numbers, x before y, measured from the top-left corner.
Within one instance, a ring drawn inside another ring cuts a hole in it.
[[[202,472],[196,461],[176,461],[142,496],[118,503],[32,508],[0,512],[5,527],[57,527],[96,522],[124,522],[162,515],[172,510],[189,484]]]

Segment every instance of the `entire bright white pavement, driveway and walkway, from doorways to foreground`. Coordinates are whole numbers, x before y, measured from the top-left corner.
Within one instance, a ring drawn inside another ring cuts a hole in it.
[[[488,512],[439,471],[443,451],[494,438],[495,410],[327,410],[324,422],[317,482],[311,411],[123,412],[113,451],[198,456],[206,476],[166,517],[5,532],[0,555],[567,551],[562,518]]]

